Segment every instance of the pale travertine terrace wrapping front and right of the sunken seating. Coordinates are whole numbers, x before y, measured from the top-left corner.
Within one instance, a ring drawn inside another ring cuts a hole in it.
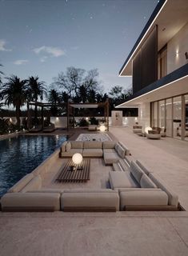
[[[188,143],[154,141],[110,128],[157,172],[188,210]],[[188,255],[188,213],[1,213],[0,255]]]

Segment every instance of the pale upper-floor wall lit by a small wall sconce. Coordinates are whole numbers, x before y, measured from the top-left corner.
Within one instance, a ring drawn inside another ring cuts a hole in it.
[[[167,74],[187,63],[186,52],[188,52],[188,22],[167,43]]]

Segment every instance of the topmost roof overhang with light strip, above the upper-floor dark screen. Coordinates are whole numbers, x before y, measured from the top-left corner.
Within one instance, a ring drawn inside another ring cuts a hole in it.
[[[151,14],[149,21],[142,30],[126,62],[123,64],[119,76],[132,75],[132,60],[142,47],[154,26],[158,25],[158,50],[162,49],[175,34],[188,22],[187,0],[161,0]]]

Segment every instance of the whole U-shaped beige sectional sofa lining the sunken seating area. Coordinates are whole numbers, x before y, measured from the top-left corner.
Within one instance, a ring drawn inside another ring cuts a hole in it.
[[[78,149],[82,154],[86,149],[94,154],[92,150],[97,149],[103,157],[105,154],[117,155],[118,160],[112,162],[113,169],[109,172],[110,189],[42,189],[44,175],[53,172],[54,164],[60,160],[59,150],[56,150],[2,196],[2,211],[179,210],[178,195],[138,160],[130,160],[129,164],[127,158],[133,158],[130,155],[124,158],[126,153],[118,152],[118,146],[124,148],[121,142],[70,144],[71,154]],[[70,150],[61,150],[61,153]]]

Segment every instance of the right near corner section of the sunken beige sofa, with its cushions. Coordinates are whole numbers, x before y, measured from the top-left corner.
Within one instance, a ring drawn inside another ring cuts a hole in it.
[[[178,195],[138,160],[113,167],[110,186],[119,193],[120,210],[178,210]]]

